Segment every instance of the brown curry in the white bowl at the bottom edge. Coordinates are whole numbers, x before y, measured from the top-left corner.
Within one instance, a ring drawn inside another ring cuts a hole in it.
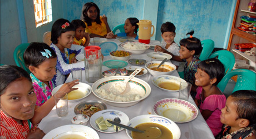
[[[159,130],[157,130],[156,128],[151,128],[151,127],[158,127],[158,128],[160,128],[161,132]],[[131,136],[134,139],[136,139],[136,138],[155,138],[155,137],[157,137],[159,139],[173,138],[173,134],[171,133],[171,131],[167,127],[160,125],[158,123],[141,123],[141,124],[135,126],[135,128],[138,130],[145,131],[145,132],[140,133],[140,132],[131,131]]]

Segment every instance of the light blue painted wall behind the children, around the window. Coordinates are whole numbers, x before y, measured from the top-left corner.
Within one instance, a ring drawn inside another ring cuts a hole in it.
[[[1,64],[15,64],[13,51],[22,43],[21,39],[24,39],[21,37],[22,29],[26,29],[29,43],[42,42],[43,33],[51,31],[56,19],[66,18],[70,21],[80,19],[83,4],[91,2],[53,0],[53,22],[36,28],[33,1],[23,0],[24,19],[21,18],[21,22],[26,24],[19,24],[18,19],[21,16],[18,15],[18,10],[21,9],[17,8],[19,7],[17,1],[21,0],[1,0]],[[215,47],[227,48],[236,0],[93,0],[92,2],[99,6],[101,15],[106,14],[111,29],[124,23],[128,17],[150,19],[156,29],[155,36],[151,39],[161,41],[161,24],[170,21],[176,26],[176,43],[186,38],[185,34],[190,29],[194,29],[194,37],[201,41],[213,39]]]

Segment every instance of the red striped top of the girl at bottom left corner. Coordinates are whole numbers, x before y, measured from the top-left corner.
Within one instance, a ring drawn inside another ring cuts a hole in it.
[[[1,136],[0,138],[21,139],[27,138],[29,125],[27,120],[22,120],[23,126],[15,121],[11,116],[6,115],[1,110]]]

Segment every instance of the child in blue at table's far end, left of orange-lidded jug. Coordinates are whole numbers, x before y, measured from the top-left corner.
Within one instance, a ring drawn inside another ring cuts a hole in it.
[[[139,39],[139,36],[137,35],[137,30],[139,28],[139,25],[137,25],[137,23],[139,23],[139,20],[137,18],[135,17],[127,18],[125,20],[125,25],[124,25],[125,32],[120,32],[114,35],[114,33],[111,31],[107,33],[106,38],[116,38],[116,36],[119,36],[119,37],[129,36],[129,37],[134,37],[135,39]]]

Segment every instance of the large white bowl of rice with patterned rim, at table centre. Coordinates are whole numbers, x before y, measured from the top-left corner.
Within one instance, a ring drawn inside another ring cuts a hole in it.
[[[115,83],[124,81],[128,76],[110,76],[101,78],[92,85],[92,93],[108,105],[129,107],[139,103],[150,95],[151,87],[139,78],[133,78],[128,83],[127,90],[120,94],[111,90],[119,90]]]

